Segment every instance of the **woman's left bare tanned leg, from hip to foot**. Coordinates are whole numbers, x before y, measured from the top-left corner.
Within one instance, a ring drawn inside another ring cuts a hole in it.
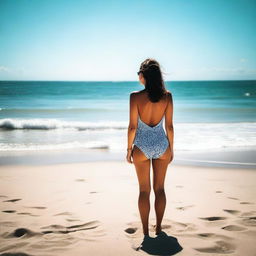
[[[148,235],[148,219],[150,212],[150,159],[141,150],[134,146],[132,152],[133,162],[139,182],[138,207],[143,226],[144,235]]]

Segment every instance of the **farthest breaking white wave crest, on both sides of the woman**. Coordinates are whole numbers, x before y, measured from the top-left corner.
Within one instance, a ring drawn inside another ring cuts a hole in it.
[[[0,129],[15,130],[52,130],[52,129],[75,129],[75,130],[105,130],[105,129],[127,129],[128,121],[64,121],[60,119],[0,119]],[[174,129],[180,132],[200,134],[209,132],[209,135],[221,132],[255,132],[256,122],[218,122],[218,123],[174,123]]]

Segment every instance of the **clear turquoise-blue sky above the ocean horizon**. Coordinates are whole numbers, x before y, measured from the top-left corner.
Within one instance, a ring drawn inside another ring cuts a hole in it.
[[[0,80],[256,79],[255,0],[0,0]]]

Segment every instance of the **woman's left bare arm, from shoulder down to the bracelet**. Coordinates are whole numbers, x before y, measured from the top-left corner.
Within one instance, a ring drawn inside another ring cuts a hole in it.
[[[137,125],[138,125],[138,108],[136,103],[136,93],[132,92],[130,94],[130,121],[128,126],[128,133],[127,133],[128,149],[132,148],[133,141],[136,135]]]

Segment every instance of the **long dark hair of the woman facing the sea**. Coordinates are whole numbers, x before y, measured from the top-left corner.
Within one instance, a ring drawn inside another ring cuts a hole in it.
[[[159,63],[155,59],[148,58],[140,65],[140,71],[145,78],[145,90],[151,102],[158,102],[165,94],[164,80]]]

